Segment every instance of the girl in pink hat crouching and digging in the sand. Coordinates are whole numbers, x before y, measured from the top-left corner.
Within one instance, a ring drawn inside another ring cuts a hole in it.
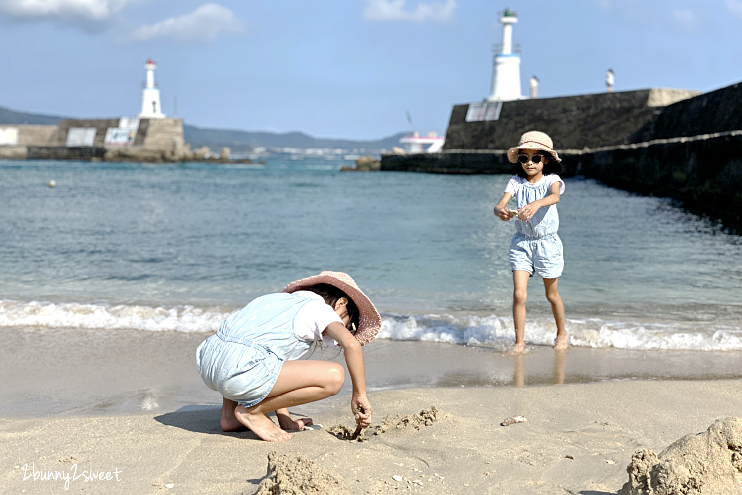
[[[381,317],[349,275],[322,272],[263,295],[229,315],[203,341],[196,363],[206,385],[223,396],[224,431],[246,426],[263,440],[286,440],[312,419],[292,421],[289,407],[338,393],[345,370],[329,361],[296,361],[314,341],[343,347],[353,384],[350,409],[358,427],[371,424],[364,355]],[[278,427],[268,417],[275,411]]]

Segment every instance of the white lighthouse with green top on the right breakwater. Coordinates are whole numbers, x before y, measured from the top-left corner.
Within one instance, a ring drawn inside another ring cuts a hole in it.
[[[500,17],[502,23],[502,45],[495,54],[492,71],[492,88],[488,102],[510,102],[522,99],[520,94],[520,55],[513,53],[513,24],[518,16],[505,9]]]

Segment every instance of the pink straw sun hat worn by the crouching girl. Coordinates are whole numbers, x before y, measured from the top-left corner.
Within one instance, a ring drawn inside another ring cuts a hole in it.
[[[283,289],[283,292],[296,292],[313,286],[315,283],[329,283],[338,287],[352,299],[355,306],[358,306],[358,330],[355,332],[355,338],[361,345],[368,344],[381,330],[381,316],[371,300],[358,288],[358,285],[347,273],[322,272],[319,275],[289,283],[286,289]]]

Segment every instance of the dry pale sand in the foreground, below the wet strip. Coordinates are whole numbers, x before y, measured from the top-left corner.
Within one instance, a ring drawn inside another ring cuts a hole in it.
[[[0,479],[3,493],[58,494],[65,492],[65,480],[34,481],[33,469],[69,473],[76,465],[79,477],[68,488],[78,493],[253,494],[275,450],[315,460],[341,476],[352,494],[608,495],[628,479],[634,450],[659,452],[721,416],[739,415],[741,390],[741,380],[389,390],[370,394],[370,430],[387,413],[416,413],[432,405],[440,419],[420,430],[370,435],[365,442],[341,440],[326,430],[295,433],[288,442],[222,433],[213,407],[1,419]],[[347,409],[347,397],[336,396],[292,413],[310,413],[327,427],[349,425]],[[528,422],[499,425],[516,414]],[[83,471],[114,474],[85,482]]]

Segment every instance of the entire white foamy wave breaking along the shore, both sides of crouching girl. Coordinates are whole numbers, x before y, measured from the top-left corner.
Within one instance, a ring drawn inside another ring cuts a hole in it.
[[[1,301],[0,327],[135,329],[215,332],[229,315],[224,309],[170,308],[104,304],[53,304]],[[570,343],[579,347],[626,350],[742,350],[742,327],[731,324],[569,319]],[[377,338],[448,344],[495,344],[513,341],[513,318],[503,316],[383,315]],[[550,345],[557,335],[551,318],[526,322],[526,342]]]

